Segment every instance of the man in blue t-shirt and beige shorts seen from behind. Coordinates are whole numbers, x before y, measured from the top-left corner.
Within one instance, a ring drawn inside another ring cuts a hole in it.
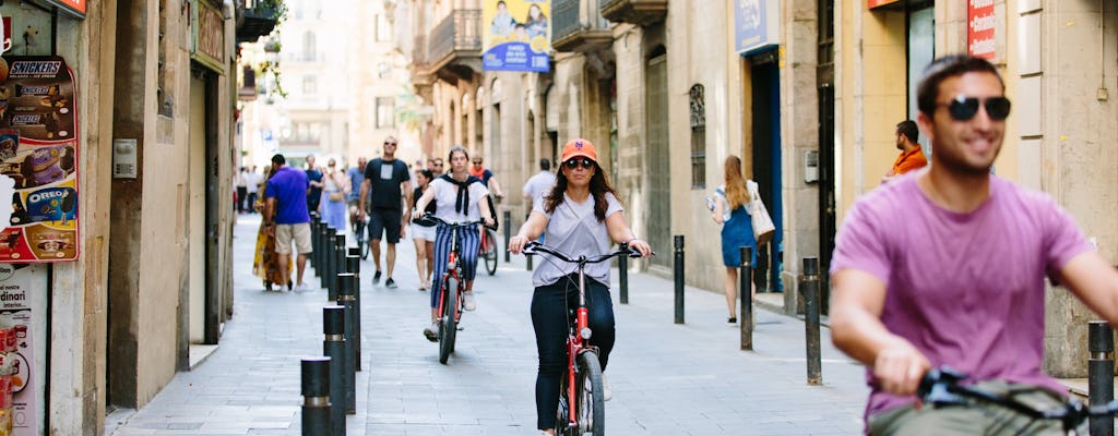
[[[306,284],[303,283],[303,271],[306,269],[306,255],[312,250],[311,215],[306,211],[306,190],[310,187],[310,182],[306,173],[287,166],[287,159],[282,154],[272,156],[272,169],[275,174],[268,178],[265,193],[264,224],[268,233],[276,236],[280,271],[288,271],[291,243],[295,243],[299,253],[295,263],[299,285],[295,289],[304,291]],[[290,281],[287,289],[291,289]]]

